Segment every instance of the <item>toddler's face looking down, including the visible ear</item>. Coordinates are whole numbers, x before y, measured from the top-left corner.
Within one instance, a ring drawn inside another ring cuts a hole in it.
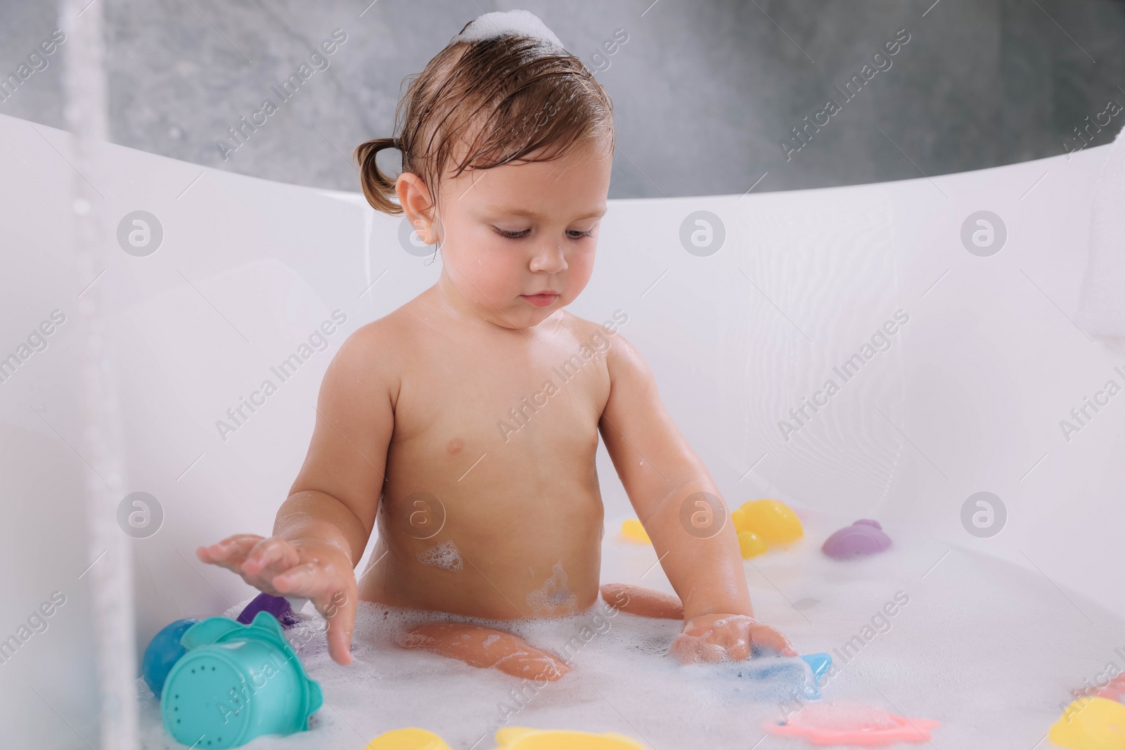
[[[461,315],[526,328],[590,281],[611,166],[605,143],[588,141],[554,161],[466,170],[442,182],[432,223],[421,180],[400,175],[398,193],[418,235],[440,242],[444,300]]]

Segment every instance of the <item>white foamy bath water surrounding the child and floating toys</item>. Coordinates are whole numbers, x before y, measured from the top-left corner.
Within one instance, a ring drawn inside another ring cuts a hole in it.
[[[606,527],[620,521],[606,519]],[[807,674],[799,659],[680,665],[667,653],[680,622],[614,613],[601,598],[572,616],[534,621],[361,602],[348,667],[328,658],[323,620],[309,604],[286,635],[324,689],[324,707],[308,732],[244,747],[361,750],[382,732],[418,726],[454,750],[492,750],[496,729],[522,725],[620,732],[652,750],[771,750],[807,746],[766,735],[767,724],[795,716],[803,705],[828,705],[837,713],[868,706],[938,721],[932,744],[939,750],[1029,750],[1070,703],[1071,690],[1119,659],[1114,649],[1125,647],[1119,618],[1078,594],[1064,596],[1036,571],[894,528],[886,528],[894,539],[889,551],[838,562],[819,544],[842,519],[804,514],[803,521],[803,540],[746,561],[745,569],[757,618],[789,635],[799,653],[831,654],[820,701],[810,704],[792,692],[798,672]],[[606,533],[603,581],[672,593],[655,562],[651,546]],[[565,659],[572,671],[537,683],[398,645],[411,626],[434,621],[513,632]],[[778,668],[763,677],[757,667],[748,677],[755,663]],[[179,748],[164,735],[159,704],[143,680],[137,690],[142,747]],[[1040,747],[1051,746],[1043,740]]]

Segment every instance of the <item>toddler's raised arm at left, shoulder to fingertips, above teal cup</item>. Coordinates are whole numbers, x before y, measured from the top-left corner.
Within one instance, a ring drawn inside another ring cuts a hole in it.
[[[236,534],[196,552],[267,594],[312,599],[327,621],[328,653],[341,665],[351,661],[354,568],[375,527],[394,432],[393,344],[377,320],[349,336],[332,360],[308,453],[273,535]]]

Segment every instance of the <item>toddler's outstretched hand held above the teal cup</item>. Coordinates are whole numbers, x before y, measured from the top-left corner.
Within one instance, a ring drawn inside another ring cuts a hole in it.
[[[356,571],[339,546],[317,539],[235,534],[218,544],[200,546],[196,555],[202,562],[233,570],[271,596],[310,599],[325,620],[332,660],[351,663]]]

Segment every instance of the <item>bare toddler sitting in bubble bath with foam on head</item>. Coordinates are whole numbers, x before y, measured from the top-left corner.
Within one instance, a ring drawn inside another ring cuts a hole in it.
[[[341,346],[273,535],[237,534],[199,559],[312,599],[341,665],[358,598],[500,621],[574,614],[600,590],[601,433],[680,595],[606,585],[605,600],[682,617],[670,651],[684,662],[746,659],[755,644],[795,656],[753,616],[732,524],[701,534],[682,521],[721,503],[719,489],[645,360],[566,310],[590,280],[605,213],[609,96],[538,18],[510,11],[466,25],[402,106],[398,137],[356,150],[363,192],[436,244],[441,275]],[[402,152],[396,179],[376,165],[386,147]],[[568,671],[472,624],[429,622],[404,645],[519,677]]]

